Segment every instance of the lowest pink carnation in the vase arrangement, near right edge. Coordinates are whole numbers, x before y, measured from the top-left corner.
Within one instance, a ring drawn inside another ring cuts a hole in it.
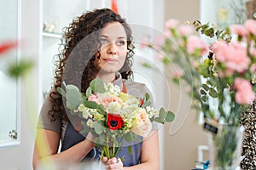
[[[236,89],[236,103],[240,105],[249,105],[255,99],[252,84],[247,80],[243,78],[236,78],[234,88]]]

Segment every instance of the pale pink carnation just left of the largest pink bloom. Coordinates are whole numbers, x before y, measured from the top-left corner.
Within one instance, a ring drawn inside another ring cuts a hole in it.
[[[199,50],[200,54],[196,54],[196,51]],[[187,51],[189,54],[196,54],[202,56],[207,54],[208,46],[206,42],[203,42],[200,37],[190,36],[188,38]]]

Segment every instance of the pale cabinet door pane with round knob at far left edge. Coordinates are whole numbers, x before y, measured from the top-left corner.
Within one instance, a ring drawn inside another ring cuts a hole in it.
[[[0,44],[16,42],[18,37],[18,2],[2,1],[0,5]],[[7,74],[8,65],[17,62],[17,50],[0,54],[0,147],[15,141],[17,130],[17,80]],[[13,136],[9,136],[12,133]]]

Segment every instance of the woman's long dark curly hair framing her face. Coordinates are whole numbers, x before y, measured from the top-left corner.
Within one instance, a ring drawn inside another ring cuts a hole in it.
[[[63,29],[64,33],[59,48],[60,54],[55,55],[55,89],[61,87],[61,83],[65,82],[78,86],[81,92],[86,91],[98,72],[95,61],[101,56],[99,53],[102,46],[100,32],[104,26],[111,22],[119,22],[124,26],[127,37],[127,56],[119,72],[125,79],[132,78],[131,66],[134,46],[130,26],[125,19],[109,8],[94,9],[77,17]],[[53,90],[49,97],[52,104],[52,109],[48,112],[50,121],[55,122],[57,118],[69,121],[61,94]]]

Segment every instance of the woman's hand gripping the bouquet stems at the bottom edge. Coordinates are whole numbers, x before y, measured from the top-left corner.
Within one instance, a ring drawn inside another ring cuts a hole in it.
[[[122,170],[123,162],[119,157],[113,157],[108,159],[108,157],[104,156],[102,158],[102,162],[105,164],[105,168],[107,170]]]

